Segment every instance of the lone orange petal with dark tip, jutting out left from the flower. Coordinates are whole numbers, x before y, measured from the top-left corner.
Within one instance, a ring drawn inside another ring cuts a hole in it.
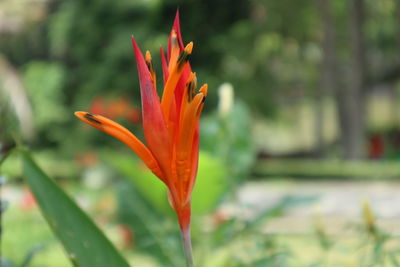
[[[165,182],[163,173],[158,166],[156,159],[151,151],[128,129],[122,125],[107,119],[106,117],[91,114],[89,112],[77,111],[75,116],[83,122],[97,128],[129,146],[143,160],[146,166],[162,181]]]

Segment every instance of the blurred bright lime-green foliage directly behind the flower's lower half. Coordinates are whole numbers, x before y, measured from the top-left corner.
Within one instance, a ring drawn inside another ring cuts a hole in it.
[[[138,193],[153,209],[174,216],[168,204],[166,186],[155,177],[141,162],[132,157],[110,153],[105,156],[117,172],[130,180]],[[199,170],[192,195],[194,215],[206,214],[215,210],[228,188],[227,168],[221,160],[206,152],[200,152]]]

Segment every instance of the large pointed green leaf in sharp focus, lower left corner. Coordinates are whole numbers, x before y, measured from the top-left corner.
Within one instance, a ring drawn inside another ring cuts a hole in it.
[[[73,200],[23,152],[24,177],[71,262],[82,267],[129,264]]]

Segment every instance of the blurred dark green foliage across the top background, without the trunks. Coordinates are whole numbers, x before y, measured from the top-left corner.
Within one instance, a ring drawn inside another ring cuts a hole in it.
[[[332,6],[338,57],[346,72],[349,6],[346,1]],[[373,62],[369,76],[374,79],[400,58],[396,2],[366,1],[366,7],[366,45]],[[1,53],[22,72],[32,98],[38,131],[33,143],[71,157],[73,148],[95,143],[95,134],[78,126],[73,111],[87,110],[98,96],[140,105],[130,37],[134,34],[140,47],[152,52],[161,84],[158,51],[166,46],[178,8],[184,42],[195,43],[193,70],[200,84],[209,84],[205,112],[216,106],[216,88],[225,81],[234,85],[251,114],[270,117],[317,94],[323,28],[319,6],[312,1],[52,1],[42,20],[4,34],[0,41]]]

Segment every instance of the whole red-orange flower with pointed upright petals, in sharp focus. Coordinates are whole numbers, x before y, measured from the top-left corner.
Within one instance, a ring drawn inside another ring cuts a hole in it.
[[[168,40],[167,59],[160,48],[164,78],[161,101],[156,91],[156,74],[150,52],[147,51],[143,57],[133,36],[132,43],[139,72],[147,146],[110,119],[81,111],[75,115],[128,145],[166,184],[184,239],[190,239],[191,194],[199,156],[199,117],[207,95],[207,84],[196,92],[196,74],[191,71],[188,62],[193,43],[183,46],[178,12]]]

